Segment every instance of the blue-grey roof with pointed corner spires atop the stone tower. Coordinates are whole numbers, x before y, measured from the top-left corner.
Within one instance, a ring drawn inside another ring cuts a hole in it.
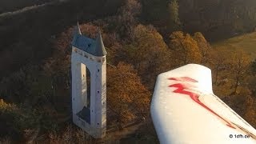
[[[71,45],[94,56],[102,57],[106,55],[106,49],[100,32],[98,32],[95,40],[92,38],[87,38],[82,34],[75,33]]]

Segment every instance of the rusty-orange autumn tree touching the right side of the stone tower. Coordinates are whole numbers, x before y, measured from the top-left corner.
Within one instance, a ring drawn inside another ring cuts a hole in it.
[[[116,67],[107,67],[107,94],[108,106],[121,124],[148,115],[150,92],[131,65],[119,62]]]

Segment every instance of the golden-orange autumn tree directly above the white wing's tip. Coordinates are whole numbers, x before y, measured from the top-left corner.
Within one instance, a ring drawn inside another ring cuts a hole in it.
[[[177,57],[182,61],[182,65],[200,63],[202,60],[198,43],[190,34],[183,34],[182,31],[173,32],[170,34],[169,47],[171,50],[175,51]]]

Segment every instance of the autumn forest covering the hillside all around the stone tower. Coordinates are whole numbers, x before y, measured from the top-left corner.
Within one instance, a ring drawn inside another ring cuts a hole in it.
[[[122,140],[100,142],[158,143],[149,113],[154,82],[188,63],[210,67],[214,94],[256,127],[256,59],[243,47],[210,44],[254,31],[255,6],[252,0],[74,0],[1,17],[0,142],[99,142],[70,117],[70,42],[78,18],[87,37],[102,31],[108,52],[107,134],[146,123]]]

